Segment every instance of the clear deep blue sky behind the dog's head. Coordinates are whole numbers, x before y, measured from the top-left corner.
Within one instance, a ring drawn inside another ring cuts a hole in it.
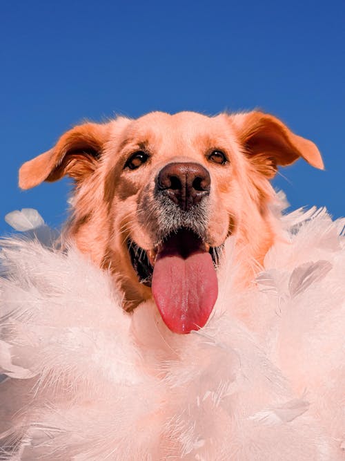
[[[322,151],[275,187],[344,215],[345,2],[6,1],[0,6],[1,203],[66,218],[68,180],[19,191],[21,163],[82,120],[259,107]]]

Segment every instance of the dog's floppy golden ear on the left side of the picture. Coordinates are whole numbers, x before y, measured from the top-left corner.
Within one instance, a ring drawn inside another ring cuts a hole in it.
[[[55,147],[24,163],[19,187],[30,189],[65,175],[77,182],[95,171],[108,135],[107,124],[86,123],[64,133]]]

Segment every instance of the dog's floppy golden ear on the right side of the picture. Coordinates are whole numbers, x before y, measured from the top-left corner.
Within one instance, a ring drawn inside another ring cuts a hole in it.
[[[295,135],[273,115],[253,111],[233,115],[231,120],[248,158],[268,178],[275,176],[277,165],[291,164],[299,157],[313,167],[324,169],[315,144]]]

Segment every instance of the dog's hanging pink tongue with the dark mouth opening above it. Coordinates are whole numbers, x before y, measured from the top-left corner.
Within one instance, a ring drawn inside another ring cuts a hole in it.
[[[217,274],[205,245],[181,230],[157,253],[152,294],[166,326],[175,333],[203,327],[218,294]]]

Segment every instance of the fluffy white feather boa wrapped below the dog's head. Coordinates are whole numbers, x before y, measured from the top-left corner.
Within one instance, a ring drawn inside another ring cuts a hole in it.
[[[341,460],[344,220],[280,218],[285,238],[236,292],[231,238],[208,325],[120,307],[71,247],[2,242],[0,460]]]

